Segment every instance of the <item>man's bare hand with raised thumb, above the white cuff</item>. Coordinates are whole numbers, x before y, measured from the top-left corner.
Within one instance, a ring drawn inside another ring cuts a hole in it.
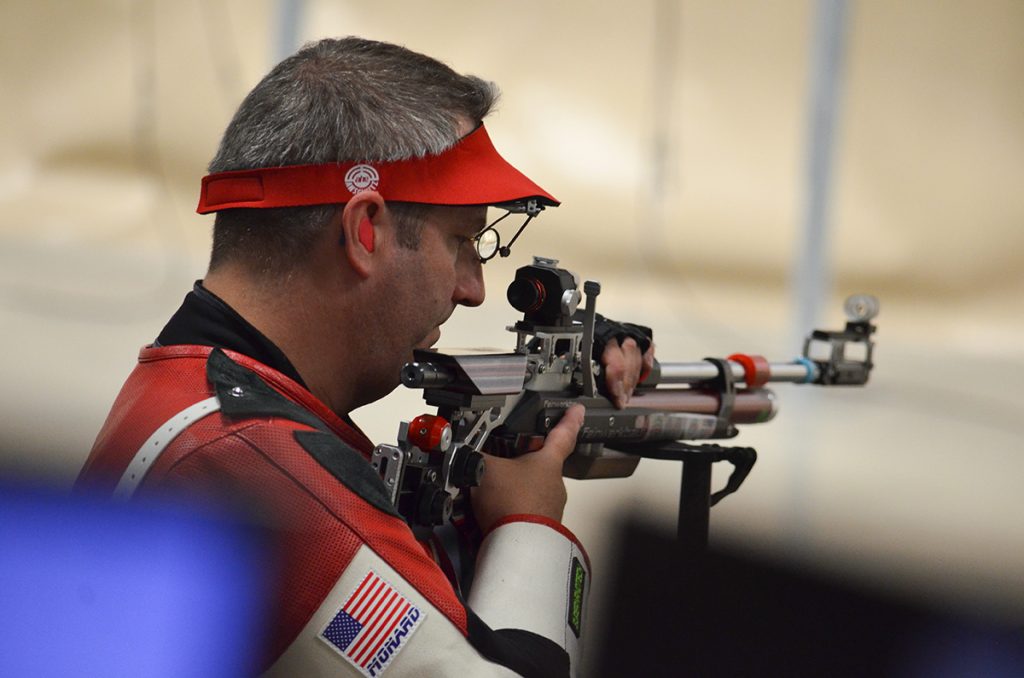
[[[572,454],[584,407],[574,405],[548,433],[544,447],[515,459],[486,458],[479,488],[472,492],[473,515],[486,533],[501,518],[517,513],[561,522],[565,509],[562,462]]]

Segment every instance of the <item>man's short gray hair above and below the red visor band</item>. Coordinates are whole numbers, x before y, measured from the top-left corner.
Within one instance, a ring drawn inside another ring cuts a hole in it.
[[[442,153],[461,121],[479,124],[498,97],[493,83],[424,54],[362,38],[321,40],[270,71],[242,101],[209,170]],[[241,260],[254,272],[288,272],[309,252],[337,205],[232,209],[214,222],[210,268]],[[394,203],[406,247],[419,244],[422,207]]]

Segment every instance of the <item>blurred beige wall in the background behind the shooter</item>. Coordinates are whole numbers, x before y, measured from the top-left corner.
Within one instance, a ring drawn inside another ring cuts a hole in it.
[[[487,264],[487,303],[442,346],[511,347],[504,287],[543,254],[600,280],[603,312],[653,326],[664,359],[798,352],[814,3],[290,4],[300,41],[358,34],[495,80],[496,144],[564,202]],[[5,472],[70,483],[203,276],[199,178],[289,40],[282,7],[0,4]],[[821,321],[880,296],[878,367],[865,390],[777,389],[776,420],[737,440],[761,458],[713,538],[1024,603],[1024,3],[851,1],[847,29]],[[422,409],[396,392],[356,419],[392,440]],[[644,462],[571,483],[598,577],[616,516],[673,523],[678,481]]]

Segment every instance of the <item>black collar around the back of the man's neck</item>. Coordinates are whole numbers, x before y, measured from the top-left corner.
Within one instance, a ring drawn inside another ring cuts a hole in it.
[[[259,361],[306,387],[284,351],[223,299],[203,287],[203,281],[196,281],[193,291],[185,295],[181,307],[171,315],[154,344],[226,348]]]

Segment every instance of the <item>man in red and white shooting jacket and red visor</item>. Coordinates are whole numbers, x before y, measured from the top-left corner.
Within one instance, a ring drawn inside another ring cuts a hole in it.
[[[466,601],[387,502],[348,419],[397,385],[457,305],[483,301],[486,207],[557,205],[492,146],[481,121],[495,97],[356,38],[274,68],[204,179],[200,211],[217,212],[209,272],[142,349],[80,476],[125,498],[212,497],[272,527],[272,674],[577,671],[590,577],[560,524],[560,471],[582,408],[540,451],[488,459]],[[602,361],[625,405],[636,341],[609,341]]]

